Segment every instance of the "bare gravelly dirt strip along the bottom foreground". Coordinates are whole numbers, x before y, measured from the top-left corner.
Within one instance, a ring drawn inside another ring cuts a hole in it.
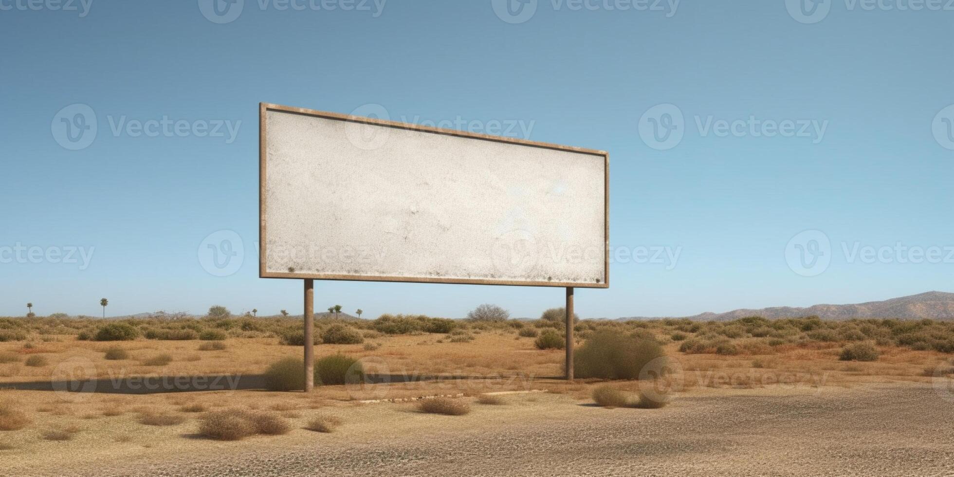
[[[471,398],[465,398],[471,399]],[[949,475],[954,406],[929,384],[698,388],[663,409],[571,394],[509,395],[466,416],[414,404],[334,407],[332,434],[198,440],[195,423],[70,462],[9,459],[10,475]],[[323,410],[322,412],[328,412]],[[181,445],[182,442],[186,446]],[[188,443],[193,442],[195,445]],[[178,444],[176,444],[178,443]],[[48,443],[62,445],[64,443]],[[66,443],[70,444],[70,443]],[[114,447],[114,446],[112,446]],[[188,451],[188,452],[186,452]],[[13,456],[11,456],[13,457]],[[33,456],[35,457],[35,456]]]

